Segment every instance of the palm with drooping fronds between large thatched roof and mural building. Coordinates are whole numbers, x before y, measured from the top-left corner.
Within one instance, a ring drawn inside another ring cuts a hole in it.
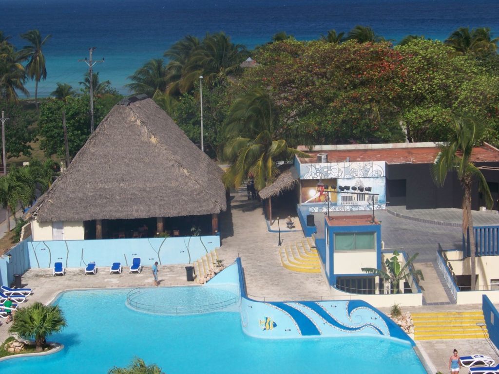
[[[242,95],[231,108],[227,121],[223,156],[232,163],[224,175],[227,187],[239,187],[251,175],[257,190],[273,182],[278,175],[276,161],[289,160],[293,155],[309,157],[288,147],[282,136],[291,127],[279,121],[279,110],[261,89]]]

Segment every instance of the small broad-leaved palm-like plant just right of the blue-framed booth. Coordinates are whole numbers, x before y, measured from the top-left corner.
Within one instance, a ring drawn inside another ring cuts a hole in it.
[[[400,293],[400,282],[405,280],[409,281],[411,278],[415,278],[416,281],[425,280],[423,277],[423,272],[421,270],[415,270],[413,265],[414,260],[418,257],[419,253],[415,253],[411,256],[410,259],[402,266],[402,262],[399,261],[400,253],[397,251],[393,252],[393,256],[391,258],[387,258],[385,260],[385,267],[387,271],[372,268],[372,267],[363,267],[361,270],[364,273],[374,274],[386,281],[390,281],[392,293],[398,294]]]

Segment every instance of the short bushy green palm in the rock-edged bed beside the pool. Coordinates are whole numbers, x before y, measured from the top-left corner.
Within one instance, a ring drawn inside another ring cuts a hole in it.
[[[14,322],[8,331],[22,339],[34,339],[36,352],[41,352],[46,344],[46,337],[61,332],[66,326],[66,320],[58,305],[35,302],[16,311]]]

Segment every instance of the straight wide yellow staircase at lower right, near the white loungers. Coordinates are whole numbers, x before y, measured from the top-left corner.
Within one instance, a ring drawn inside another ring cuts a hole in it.
[[[489,337],[482,311],[413,313],[412,319],[414,340],[483,339]]]

